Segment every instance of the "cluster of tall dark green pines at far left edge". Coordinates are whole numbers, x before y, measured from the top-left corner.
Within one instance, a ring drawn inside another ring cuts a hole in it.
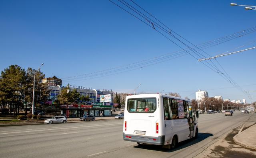
[[[24,68],[18,65],[10,65],[1,71],[0,76],[0,109],[4,113],[19,113],[19,109],[32,106],[33,82],[35,75],[35,99],[34,103],[39,106],[49,95],[48,86],[42,83],[45,78],[40,70]]]

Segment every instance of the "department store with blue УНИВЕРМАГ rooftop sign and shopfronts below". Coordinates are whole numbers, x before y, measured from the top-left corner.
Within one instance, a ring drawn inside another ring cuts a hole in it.
[[[61,90],[66,88],[66,86],[60,85],[62,81],[59,78],[56,78],[56,76],[45,78],[42,82],[48,83],[49,86],[48,89],[50,90],[50,95],[48,98],[49,101],[47,101],[48,104],[53,104],[54,101],[57,100],[57,96],[60,94]],[[90,101],[83,104],[78,101],[78,104],[80,105],[60,105],[61,114],[66,117],[82,117],[84,114],[100,116],[100,113],[104,116],[110,116],[113,105],[116,105],[113,103],[114,92],[112,92],[112,90],[99,90],[92,89],[91,87],[74,85],[70,85],[69,90],[77,90],[77,92],[80,93],[80,96],[89,96]],[[111,102],[104,103],[103,105],[103,103],[100,103],[100,95],[106,94],[111,94]]]

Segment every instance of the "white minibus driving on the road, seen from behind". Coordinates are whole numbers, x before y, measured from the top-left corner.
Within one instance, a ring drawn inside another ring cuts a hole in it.
[[[192,103],[163,94],[140,94],[126,97],[123,138],[142,144],[175,148],[178,142],[197,137]]]

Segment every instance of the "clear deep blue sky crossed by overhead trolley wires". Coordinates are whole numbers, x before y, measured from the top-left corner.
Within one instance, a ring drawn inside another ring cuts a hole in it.
[[[231,2],[255,6],[252,0],[134,2],[195,45],[256,26],[256,11],[230,6]],[[255,34],[204,51],[215,56],[255,47]],[[209,96],[251,102],[241,90],[190,55],[108,76],[94,73],[179,50],[108,0],[0,1],[0,70],[11,64],[37,69],[44,62],[42,72],[63,79],[63,85],[133,93],[142,83],[137,93],[179,92],[194,99],[201,89]],[[218,58],[228,76],[246,91],[256,90],[255,51]],[[91,79],[67,78],[90,73]],[[256,101],[256,92],[250,95]]]

